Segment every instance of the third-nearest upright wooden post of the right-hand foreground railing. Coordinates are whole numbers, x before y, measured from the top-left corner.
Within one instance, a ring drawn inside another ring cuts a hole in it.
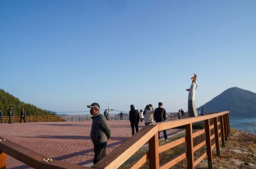
[[[210,139],[210,120],[207,119],[205,123],[205,133],[206,133],[206,144],[207,144],[207,159],[208,159],[208,168],[213,169],[212,164],[212,153],[211,153],[211,139]]]

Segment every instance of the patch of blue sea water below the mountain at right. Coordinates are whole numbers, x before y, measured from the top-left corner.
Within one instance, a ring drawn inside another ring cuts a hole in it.
[[[234,123],[234,122],[238,122],[238,123]],[[241,123],[247,123],[247,130],[245,130],[246,124],[241,124]],[[251,134],[256,134],[254,133],[254,129],[256,129],[256,118],[229,118],[229,124],[230,127],[241,130],[241,131],[245,131],[245,132],[249,132]],[[253,125],[251,125],[253,124]],[[253,129],[254,126],[254,129]]]

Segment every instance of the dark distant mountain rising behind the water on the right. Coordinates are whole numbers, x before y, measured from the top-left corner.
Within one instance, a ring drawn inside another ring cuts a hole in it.
[[[256,93],[233,87],[200,106],[206,112],[229,111],[229,117],[256,117]]]

